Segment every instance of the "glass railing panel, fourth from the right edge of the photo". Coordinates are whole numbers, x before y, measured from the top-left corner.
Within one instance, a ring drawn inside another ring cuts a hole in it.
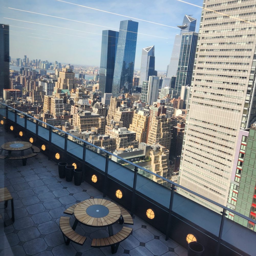
[[[108,164],[108,174],[109,176],[120,180],[120,182],[126,184],[129,187],[133,187],[133,179],[134,179],[134,166],[129,166],[133,169],[127,168],[119,163],[114,162],[109,159]]]

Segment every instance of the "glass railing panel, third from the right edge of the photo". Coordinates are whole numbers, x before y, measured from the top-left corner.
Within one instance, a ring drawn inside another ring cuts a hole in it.
[[[169,208],[171,190],[170,183],[158,178],[156,175],[138,169],[136,191]]]

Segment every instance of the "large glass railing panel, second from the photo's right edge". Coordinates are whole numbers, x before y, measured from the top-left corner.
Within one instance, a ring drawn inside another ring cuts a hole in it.
[[[173,198],[173,212],[218,236],[222,208],[177,188]],[[209,221],[210,220],[210,221]]]

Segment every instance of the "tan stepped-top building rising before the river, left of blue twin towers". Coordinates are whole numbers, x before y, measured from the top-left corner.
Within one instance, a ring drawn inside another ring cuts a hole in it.
[[[62,71],[59,72],[58,82],[55,82],[54,90],[59,92],[60,90],[69,90],[75,88],[75,73],[72,69],[62,68]]]

